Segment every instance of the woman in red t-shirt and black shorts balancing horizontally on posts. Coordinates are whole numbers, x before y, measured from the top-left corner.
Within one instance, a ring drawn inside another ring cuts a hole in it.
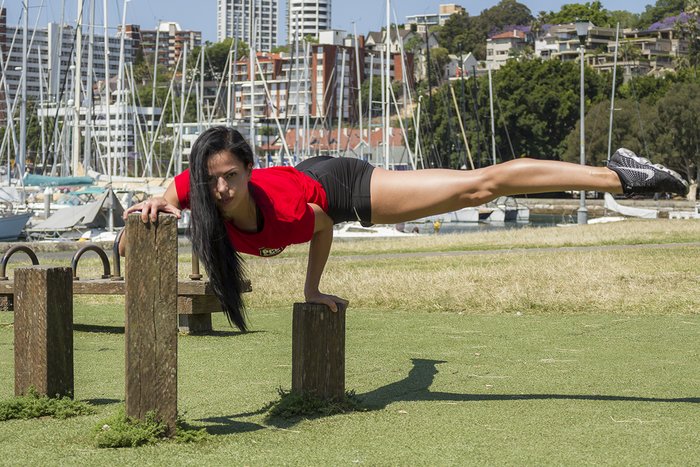
[[[238,253],[274,256],[310,241],[306,301],[337,310],[319,282],[333,241],[333,224],[394,224],[478,206],[499,196],[564,190],[611,193],[687,193],[677,173],[626,149],[608,167],[518,159],[478,170],[394,172],[353,158],[316,157],[297,167],[253,170],[253,154],[241,134],[226,127],[202,133],[192,146],[190,168],[162,197],[126,210],[143,222],[158,212],[180,216],[191,209],[192,248],[209,274],[229,321],[246,329],[241,298],[243,264]],[[120,245],[123,252],[123,245]]]

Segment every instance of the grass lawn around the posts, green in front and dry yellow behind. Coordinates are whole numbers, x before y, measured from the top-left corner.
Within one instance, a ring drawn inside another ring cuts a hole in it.
[[[697,241],[697,222],[667,236],[659,225],[673,223],[659,222],[630,225],[656,243]],[[123,299],[77,297],[76,398],[97,413],[0,422],[0,463],[696,464],[700,251],[600,250],[613,231],[595,227],[602,240],[581,251],[407,259],[341,245],[357,257],[331,260],[322,290],[351,300],[346,387],[366,410],[308,420],[263,410],[291,384],[304,259],[249,261],[254,332],[215,316],[219,332],[179,340],[179,409],[213,434],[203,444],[94,447],[124,397]],[[541,246],[581,244],[582,229],[537,230]],[[12,340],[2,313],[0,399],[13,393]]]

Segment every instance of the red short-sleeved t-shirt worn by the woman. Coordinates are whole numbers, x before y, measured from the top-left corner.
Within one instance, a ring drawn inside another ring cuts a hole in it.
[[[190,170],[175,176],[175,189],[182,209],[190,206]],[[316,180],[293,167],[253,169],[248,183],[260,210],[263,229],[243,232],[226,222],[236,251],[256,256],[275,256],[293,243],[305,243],[314,233],[314,212],[307,203],[328,211],[326,192]]]

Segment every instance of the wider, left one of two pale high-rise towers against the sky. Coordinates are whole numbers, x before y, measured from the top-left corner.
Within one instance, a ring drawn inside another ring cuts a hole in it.
[[[237,37],[258,52],[271,51],[277,44],[278,1],[217,0],[216,40]]]

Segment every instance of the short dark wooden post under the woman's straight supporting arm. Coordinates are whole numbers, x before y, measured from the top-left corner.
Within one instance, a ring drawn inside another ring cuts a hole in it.
[[[292,391],[322,399],[345,397],[345,305],[295,303],[292,317]]]

